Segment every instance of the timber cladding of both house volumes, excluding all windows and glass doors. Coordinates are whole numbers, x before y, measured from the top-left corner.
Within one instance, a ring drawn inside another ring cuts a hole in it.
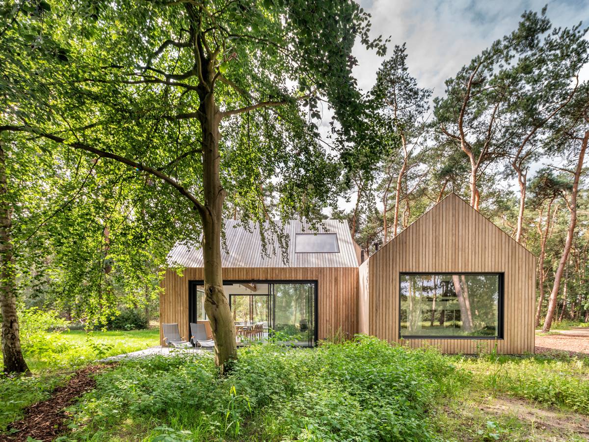
[[[319,232],[337,234],[338,253],[296,253],[291,240],[286,260],[279,252],[263,256],[260,233],[255,229],[240,229],[229,222],[226,232],[224,281],[317,282],[319,339],[340,332],[348,336],[360,332],[410,347],[431,345],[446,353],[490,352],[495,346],[503,354],[534,352],[536,258],[455,194],[362,263],[348,226],[335,220],[326,220]],[[308,229],[292,222],[284,225],[284,232],[294,238]],[[273,244],[276,247],[277,243]],[[202,257],[200,250],[180,245],[170,258],[184,271],[182,276],[172,269],[166,271],[160,324],[177,322],[181,334],[187,337],[188,286],[190,281],[203,280]],[[501,338],[400,339],[401,273],[500,273]]]

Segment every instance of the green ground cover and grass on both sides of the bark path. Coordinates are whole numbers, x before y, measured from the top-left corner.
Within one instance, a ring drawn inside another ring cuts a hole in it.
[[[76,348],[87,342],[80,332],[62,338]],[[146,339],[157,341],[157,330],[92,339],[113,345],[113,353],[124,340],[130,351]],[[589,436],[589,359],[445,356],[372,338],[316,349],[253,346],[239,356],[227,378],[217,377],[212,358],[192,354],[121,362],[97,375],[95,390],[70,407],[72,431],[64,441]],[[62,365],[44,365],[33,377],[0,381],[1,427],[28,403],[48,397],[65,376]]]

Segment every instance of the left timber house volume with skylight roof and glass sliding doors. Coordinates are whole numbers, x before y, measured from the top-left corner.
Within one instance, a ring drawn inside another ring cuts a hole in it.
[[[347,223],[325,220],[317,233],[299,221],[282,229],[287,234],[284,256],[277,238],[267,238],[269,253],[264,254],[257,227],[226,222],[221,260],[234,319],[263,322],[266,329],[288,334],[302,346],[339,333],[353,336],[358,332],[359,247]],[[160,324],[177,322],[188,336],[190,322],[206,321],[203,255],[199,248],[177,245],[169,261],[184,271],[182,276],[166,271]]]

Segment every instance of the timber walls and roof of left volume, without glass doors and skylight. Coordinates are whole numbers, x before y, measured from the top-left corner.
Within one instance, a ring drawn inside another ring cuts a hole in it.
[[[227,249],[223,250],[223,280],[231,281],[316,281],[317,338],[325,339],[343,333],[349,337],[358,332],[358,256],[359,251],[347,223],[325,220],[318,233],[335,233],[338,253],[296,253],[297,233],[309,233],[309,227],[293,221],[283,226],[289,235],[283,260],[276,238],[269,237],[270,256],[262,252],[260,233],[256,227],[243,229],[229,220],[225,226]],[[188,337],[188,283],[203,280],[202,253],[198,248],[177,245],[168,257],[171,263],[184,268],[182,276],[167,269],[161,282],[161,324],[177,322],[180,334]]]

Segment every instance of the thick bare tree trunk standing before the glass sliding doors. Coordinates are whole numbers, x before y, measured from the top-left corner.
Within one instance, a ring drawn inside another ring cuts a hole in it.
[[[203,64],[204,65],[204,64]],[[209,72],[213,72],[212,65]],[[226,192],[219,174],[219,125],[221,114],[212,88],[199,90],[200,126],[203,134],[204,207],[199,209],[203,222],[204,311],[209,316],[215,340],[215,362],[221,375],[230,368],[227,362],[237,358],[236,329],[229,302],[223,291],[221,264],[221,226]]]

